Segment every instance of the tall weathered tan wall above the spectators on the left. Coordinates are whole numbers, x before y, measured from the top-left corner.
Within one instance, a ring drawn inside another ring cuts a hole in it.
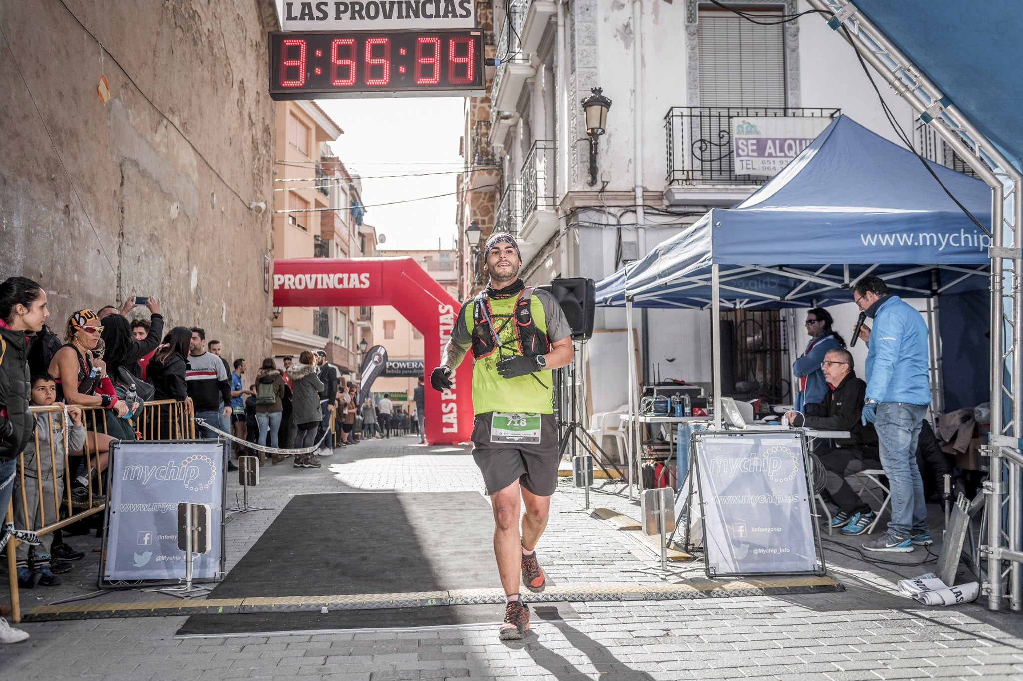
[[[271,213],[248,204],[273,206],[272,0],[65,2],[0,2],[0,280],[39,281],[56,329],[155,295],[170,325],[255,364]]]

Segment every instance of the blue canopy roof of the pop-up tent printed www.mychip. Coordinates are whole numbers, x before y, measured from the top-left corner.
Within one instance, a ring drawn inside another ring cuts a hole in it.
[[[990,224],[983,182],[931,166]],[[866,273],[904,297],[961,292],[987,286],[989,245],[913,152],[843,115],[748,199],[599,282],[597,303],[624,305],[627,280],[638,307],[706,307],[711,264],[725,307],[849,302]]]

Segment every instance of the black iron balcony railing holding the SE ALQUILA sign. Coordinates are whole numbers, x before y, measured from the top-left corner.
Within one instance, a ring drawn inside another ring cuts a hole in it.
[[[762,185],[767,176],[736,175],[731,148],[732,117],[826,117],[838,108],[773,106],[672,106],[664,116],[668,184]]]

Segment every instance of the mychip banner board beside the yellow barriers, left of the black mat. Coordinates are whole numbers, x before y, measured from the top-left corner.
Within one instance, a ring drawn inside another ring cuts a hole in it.
[[[100,584],[185,578],[178,548],[178,504],[209,504],[209,553],[192,558],[192,579],[223,573],[225,447],[216,440],[115,441]]]

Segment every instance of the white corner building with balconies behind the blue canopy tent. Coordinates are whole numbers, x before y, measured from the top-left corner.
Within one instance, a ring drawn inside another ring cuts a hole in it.
[[[853,49],[825,18],[811,13],[784,21],[810,9],[808,4],[724,4],[770,26],[700,0],[495,3],[499,63],[488,118],[483,120],[479,100],[466,103],[459,229],[478,223],[479,245],[494,231],[515,234],[527,283],[555,277],[598,281],[708,209],[738,203],[766,182],[767,177],[737,174],[732,118],[829,119],[844,113],[897,139]],[[903,130],[920,137],[909,107],[875,78]],[[591,177],[581,102],[594,88],[613,103],[606,132],[596,138]],[[918,146],[951,164],[933,142],[920,139]],[[492,192],[492,228],[488,211],[476,205],[479,198],[470,198],[483,175],[499,178],[499,189]],[[479,245],[470,244],[466,253],[474,267],[469,279],[477,285],[482,283]],[[710,381],[709,314],[635,311],[648,381],[656,368],[663,378]],[[804,344],[802,332],[794,329],[797,315],[732,314],[740,355],[736,381],[759,381],[766,384],[763,396],[784,401],[789,350],[795,347],[798,355]],[[624,310],[597,308],[597,329],[624,327]],[[755,328],[761,330],[749,333]]]

